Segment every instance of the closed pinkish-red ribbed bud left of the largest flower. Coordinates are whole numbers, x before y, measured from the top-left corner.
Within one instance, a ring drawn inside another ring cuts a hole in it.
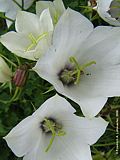
[[[28,65],[25,64],[20,66],[16,70],[12,81],[17,87],[23,87],[25,85],[25,82],[28,77],[28,69],[29,69]]]

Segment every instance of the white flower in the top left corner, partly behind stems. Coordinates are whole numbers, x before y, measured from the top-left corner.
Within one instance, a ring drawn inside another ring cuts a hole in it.
[[[17,3],[15,3],[15,1],[18,3],[18,5]],[[5,12],[5,16],[13,20],[15,20],[17,12],[21,10],[20,6],[22,7],[22,0],[15,0],[15,1],[0,0],[0,11]],[[24,9],[28,9],[34,2],[34,0],[23,0],[23,1],[24,1],[24,6],[23,6]],[[7,26],[10,27],[12,22],[9,20],[6,20],[6,22]]]

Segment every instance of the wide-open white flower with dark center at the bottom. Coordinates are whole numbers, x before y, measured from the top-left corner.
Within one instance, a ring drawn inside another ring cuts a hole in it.
[[[100,117],[78,117],[74,112],[64,98],[55,95],[4,139],[23,160],[92,160],[90,145],[103,135],[108,123]]]

